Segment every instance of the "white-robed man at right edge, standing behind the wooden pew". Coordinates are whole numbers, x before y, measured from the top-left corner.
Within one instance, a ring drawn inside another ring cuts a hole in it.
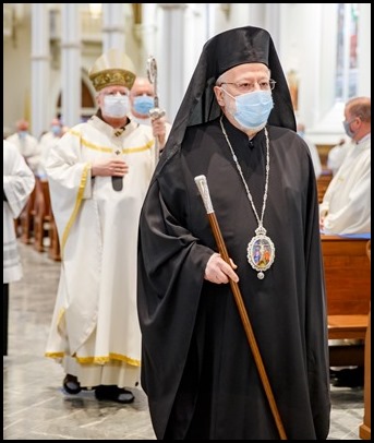
[[[345,128],[354,142],[319,205],[325,234],[371,232],[371,98],[355,97],[345,107]]]

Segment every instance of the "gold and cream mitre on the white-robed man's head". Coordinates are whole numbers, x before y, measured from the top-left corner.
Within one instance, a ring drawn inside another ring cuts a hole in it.
[[[89,71],[89,80],[96,91],[106,86],[125,86],[132,88],[136,75],[131,59],[118,49],[102,53]]]

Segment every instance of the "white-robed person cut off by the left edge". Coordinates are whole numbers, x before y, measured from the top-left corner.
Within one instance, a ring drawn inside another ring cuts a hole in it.
[[[14,220],[20,216],[35,187],[33,171],[26,165],[16,146],[8,141],[3,145],[3,347],[2,355],[8,355],[8,304],[9,284],[23,276],[21,258],[16,243]]]

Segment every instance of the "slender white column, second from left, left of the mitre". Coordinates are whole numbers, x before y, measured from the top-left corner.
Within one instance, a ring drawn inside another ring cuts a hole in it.
[[[61,76],[62,121],[81,121],[81,16],[79,3],[62,3]]]

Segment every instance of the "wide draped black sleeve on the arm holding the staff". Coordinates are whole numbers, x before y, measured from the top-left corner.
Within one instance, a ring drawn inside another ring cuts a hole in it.
[[[214,253],[198,243],[182,223],[189,205],[182,176],[180,171],[171,172],[172,190],[155,180],[140,218],[137,310],[142,330],[142,386],[149,396],[158,438],[162,438],[182,376],[205,266]],[[169,209],[171,202],[178,214]],[[167,392],[162,391],[165,386]]]

